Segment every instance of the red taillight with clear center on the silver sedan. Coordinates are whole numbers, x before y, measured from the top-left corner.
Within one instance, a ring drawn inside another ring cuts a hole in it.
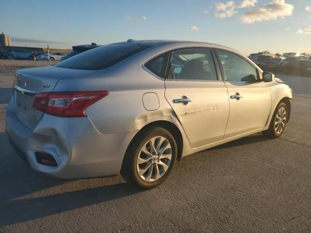
[[[108,94],[108,91],[42,92],[36,95],[33,107],[53,116],[86,116],[86,108]]]

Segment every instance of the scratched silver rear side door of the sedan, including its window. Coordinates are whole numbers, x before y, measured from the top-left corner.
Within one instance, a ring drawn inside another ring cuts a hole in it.
[[[192,148],[220,141],[225,135],[229,102],[215,59],[208,48],[171,52],[165,98],[181,122]]]

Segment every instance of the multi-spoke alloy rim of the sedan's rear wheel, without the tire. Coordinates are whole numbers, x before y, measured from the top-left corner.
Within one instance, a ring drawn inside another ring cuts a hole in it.
[[[138,176],[146,182],[160,179],[169,169],[172,161],[172,146],[163,136],[149,139],[140,149],[137,158]]]

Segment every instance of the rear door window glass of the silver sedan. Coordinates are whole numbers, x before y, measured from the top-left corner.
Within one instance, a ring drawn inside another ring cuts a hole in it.
[[[173,51],[168,79],[217,80],[211,50],[185,49]]]

